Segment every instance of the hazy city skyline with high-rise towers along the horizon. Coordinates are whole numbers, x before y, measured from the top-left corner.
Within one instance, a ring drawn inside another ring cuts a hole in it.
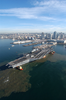
[[[0,39],[17,39],[17,40],[34,40],[34,39],[58,39],[65,40],[65,33],[11,33],[11,34],[0,34]]]

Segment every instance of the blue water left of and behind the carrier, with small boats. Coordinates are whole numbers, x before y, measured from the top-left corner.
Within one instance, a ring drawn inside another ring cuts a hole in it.
[[[14,60],[19,57],[20,54],[27,53],[32,50],[32,46],[24,48],[23,44],[14,45],[14,47],[12,47],[12,44],[10,44],[12,42],[14,41],[10,39],[0,40],[0,63]]]

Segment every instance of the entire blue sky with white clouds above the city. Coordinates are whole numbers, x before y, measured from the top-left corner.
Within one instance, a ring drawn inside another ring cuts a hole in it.
[[[0,0],[0,33],[66,32],[66,0]]]

